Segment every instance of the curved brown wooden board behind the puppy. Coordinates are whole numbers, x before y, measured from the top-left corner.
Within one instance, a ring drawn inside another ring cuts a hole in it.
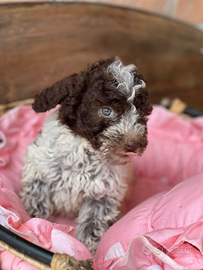
[[[144,75],[152,102],[181,96],[190,107],[203,110],[201,47],[203,32],[132,9],[1,5],[0,103],[32,98],[88,63],[118,55]]]

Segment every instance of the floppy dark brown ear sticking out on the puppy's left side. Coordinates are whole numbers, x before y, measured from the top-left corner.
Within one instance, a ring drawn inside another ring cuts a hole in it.
[[[76,93],[82,82],[80,75],[74,74],[67,77],[51,87],[44,89],[39,95],[35,96],[35,101],[32,108],[36,112],[46,112],[60,104],[64,98],[68,97],[71,103],[71,99],[75,99]]]

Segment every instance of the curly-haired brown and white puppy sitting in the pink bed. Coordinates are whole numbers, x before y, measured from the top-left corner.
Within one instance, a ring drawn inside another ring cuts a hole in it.
[[[118,215],[124,165],[147,146],[152,107],[135,66],[118,58],[55,83],[36,96],[33,109],[58,104],[28,148],[21,196],[32,217],[78,216],[76,237],[94,254]]]

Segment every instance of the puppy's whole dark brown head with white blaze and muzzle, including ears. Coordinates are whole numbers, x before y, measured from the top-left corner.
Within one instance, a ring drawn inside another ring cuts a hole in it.
[[[59,120],[86,138],[111,164],[125,164],[147,146],[148,92],[134,65],[112,58],[57,82],[36,96],[33,109],[61,104]]]

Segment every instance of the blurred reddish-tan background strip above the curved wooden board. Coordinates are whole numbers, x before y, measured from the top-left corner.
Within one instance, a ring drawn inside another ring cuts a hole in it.
[[[0,4],[60,1],[78,2],[76,0],[0,0]],[[141,9],[195,24],[203,30],[203,0],[80,0],[79,2],[97,2]]]

